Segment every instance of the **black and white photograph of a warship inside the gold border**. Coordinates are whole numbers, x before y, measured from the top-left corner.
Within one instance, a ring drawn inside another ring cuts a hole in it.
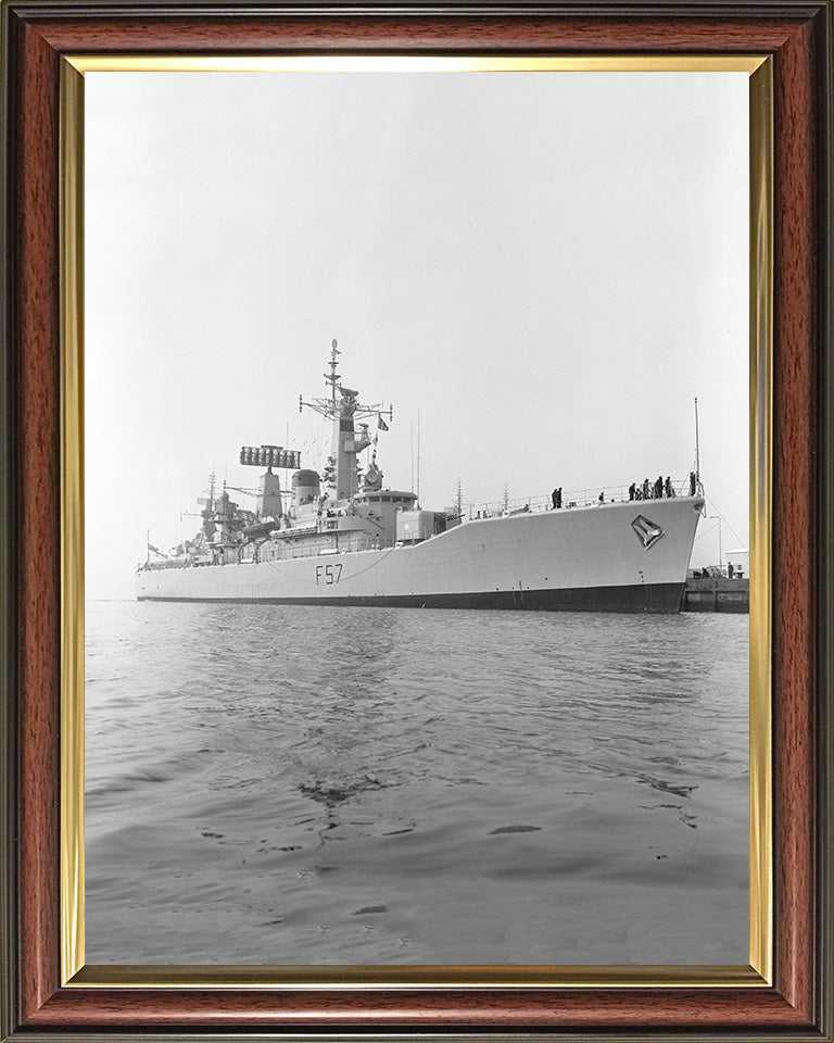
[[[84,115],[87,962],[747,965],[748,73]]]

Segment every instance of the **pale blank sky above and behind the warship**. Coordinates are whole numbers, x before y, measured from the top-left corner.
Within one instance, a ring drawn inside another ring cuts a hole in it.
[[[746,73],[88,73],[87,595],[242,444],[320,467],[332,338],[440,508],[683,477],[748,539]],[[288,428],[289,425],[289,428]],[[244,506],[251,500],[232,493]],[[710,504],[710,514],[716,510]],[[694,565],[717,562],[702,523]]]

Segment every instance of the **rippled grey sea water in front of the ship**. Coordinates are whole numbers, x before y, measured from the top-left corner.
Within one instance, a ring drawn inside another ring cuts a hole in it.
[[[747,616],[86,627],[89,963],[747,963]]]

